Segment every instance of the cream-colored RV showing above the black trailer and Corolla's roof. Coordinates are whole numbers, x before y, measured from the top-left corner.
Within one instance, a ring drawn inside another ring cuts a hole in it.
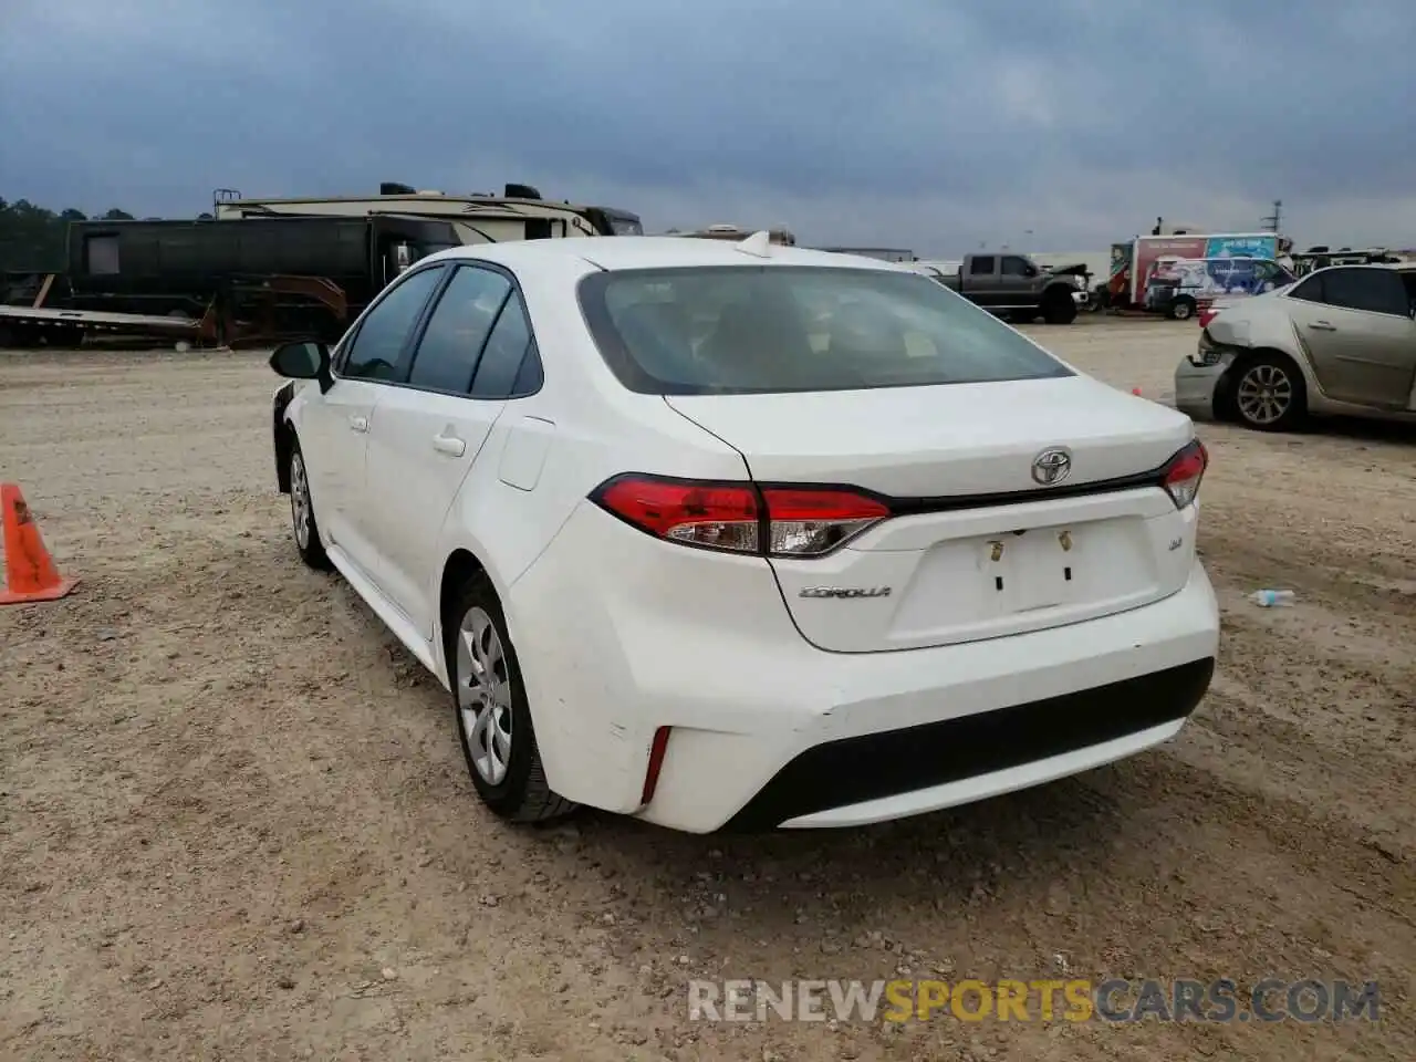
[[[436,217],[450,221],[463,244],[501,244],[514,239],[554,239],[561,236],[643,235],[636,214],[613,207],[582,207],[544,200],[528,184],[508,184],[504,195],[474,193],[447,195],[418,191],[406,184],[385,183],[378,195],[329,195],[302,198],[241,198],[224,191],[215,197],[218,221],[268,218],[272,215],[402,214]]]

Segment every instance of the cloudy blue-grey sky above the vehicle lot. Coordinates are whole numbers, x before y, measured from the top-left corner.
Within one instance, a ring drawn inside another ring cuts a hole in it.
[[[0,197],[535,184],[650,231],[1416,244],[1416,0],[0,0]]]

